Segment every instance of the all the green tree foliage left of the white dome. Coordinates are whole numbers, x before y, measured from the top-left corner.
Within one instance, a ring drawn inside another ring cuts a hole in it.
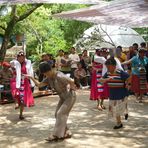
[[[3,27],[7,28],[12,20],[15,22],[9,32],[8,40],[11,39],[12,35],[25,34],[28,56],[40,55],[43,52],[56,55],[59,49],[68,50],[74,44],[75,40],[81,36],[83,31],[90,26],[90,24],[84,22],[61,20],[52,17],[52,14],[86,7],[86,5],[44,4],[38,7],[38,9],[35,9],[36,11],[33,13],[24,17],[32,7],[35,6],[15,5],[14,14],[12,13],[12,9],[7,15],[0,17],[2,22],[0,34],[3,37],[6,34]],[[0,52],[6,50],[9,43],[7,43],[5,49],[1,47]]]

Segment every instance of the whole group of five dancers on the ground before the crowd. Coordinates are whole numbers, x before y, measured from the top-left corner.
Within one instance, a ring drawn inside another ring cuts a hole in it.
[[[142,101],[143,93],[148,92],[144,69],[148,64],[148,58],[145,57],[145,52],[144,48],[140,48],[133,58],[122,63],[119,58],[109,55],[107,49],[97,49],[93,56],[90,100],[97,100],[97,109],[102,111],[106,108],[103,104],[104,99],[109,99],[109,113],[116,118],[114,129],[123,127],[121,115],[124,114],[125,119],[128,118],[128,84],[131,83],[131,90],[137,98],[140,97],[140,101]],[[129,63],[132,63],[132,78],[131,74],[123,69],[123,65]],[[33,87],[50,85],[57,92],[60,100],[55,111],[56,122],[53,134],[49,135],[46,140],[52,142],[70,138],[72,134],[67,126],[67,120],[76,101],[74,80],[44,61],[40,63],[39,70],[45,78],[38,82],[34,79],[31,61],[26,59],[23,51],[20,51],[17,58],[10,64],[13,69],[11,90],[15,98],[15,109],[20,109],[20,120],[24,119],[24,107],[34,106]]]

